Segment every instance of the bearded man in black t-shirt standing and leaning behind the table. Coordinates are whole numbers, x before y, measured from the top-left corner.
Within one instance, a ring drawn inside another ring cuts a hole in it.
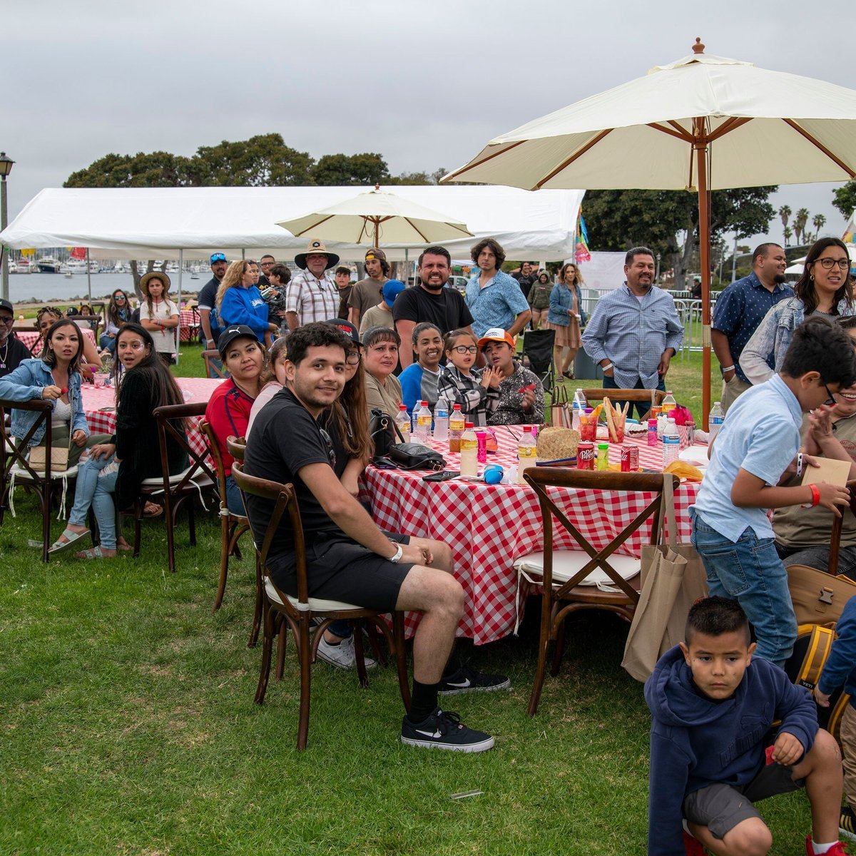
[[[406,288],[392,307],[395,330],[401,342],[413,341],[417,324],[435,324],[445,336],[452,330],[473,332],[473,316],[463,295],[456,288],[446,288],[452,270],[452,257],[445,247],[428,247],[419,256],[419,282]],[[413,348],[407,345],[399,354],[401,367],[413,363]]]

